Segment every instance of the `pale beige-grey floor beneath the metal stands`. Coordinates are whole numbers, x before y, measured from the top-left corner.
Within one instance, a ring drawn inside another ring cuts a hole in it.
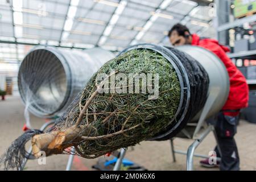
[[[10,146],[14,139],[23,133],[24,106],[19,97],[7,96],[6,101],[0,101],[0,155]],[[31,115],[31,122],[35,128],[39,128],[46,122],[44,119]],[[256,125],[241,121],[236,135],[238,151],[241,158],[242,170],[256,170]],[[192,140],[174,140],[175,148],[186,150]],[[196,149],[196,153],[208,155],[208,152],[215,146],[213,134],[207,138]],[[141,164],[149,170],[185,170],[185,156],[176,154],[177,162],[172,162],[170,142],[141,142],[133,148],[129,148],[127,159]],[[98,159],[84,159],[75,156],[72,170],[92,170],[92,165]],[[199,158],[194,159],[194,169],[206,170],[199,165]],[[30,160],[26,170],[65,170],[68,155],[54,155],[46,158],[46,164],[39,165],[37,160]],[[213,170],[218,170],[214,168]]]

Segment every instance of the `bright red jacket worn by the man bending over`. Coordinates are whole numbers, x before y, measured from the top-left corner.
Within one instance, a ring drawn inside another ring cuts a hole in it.
[[[243,107],[247,107],[249,100],[249,88],[246,83],[246,78],[226,55],[226,52],[230,51],[229,48],[218,44],[218,41],[214,39],[200,39],[196,34],[192,35],[192,45],[203,47],[215,53],[225,64],[229,74],[230,90],[228,100],[222,107],[222,110],[239,110]],[[237,115],[238,112],[226,112],[224,114]]]

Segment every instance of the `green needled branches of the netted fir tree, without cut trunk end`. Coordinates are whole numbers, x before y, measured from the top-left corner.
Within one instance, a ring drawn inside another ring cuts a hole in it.
[[[79,155],[95,158],[159,133],[175,117],[179,101],[179,80],[169,61],[134,49],[90,79],[55,130],[82,127],[73,144]]]

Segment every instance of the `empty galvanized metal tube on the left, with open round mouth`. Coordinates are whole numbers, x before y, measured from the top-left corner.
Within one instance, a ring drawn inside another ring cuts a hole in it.
[[[22,61],[19,93],[28,110],[42,118],[60,115],[106,61],[114,57],[101,48],[86,51],[38,46]]]

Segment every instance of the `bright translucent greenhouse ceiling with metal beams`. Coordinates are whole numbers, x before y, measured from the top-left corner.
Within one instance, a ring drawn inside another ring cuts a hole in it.
[[[137,43],[168,45],[168,30],[177,22],[213,37],[212,7],[200,5],[188,0],[0,0],[0,61],[22,60],[37,44],[112,51]]]

